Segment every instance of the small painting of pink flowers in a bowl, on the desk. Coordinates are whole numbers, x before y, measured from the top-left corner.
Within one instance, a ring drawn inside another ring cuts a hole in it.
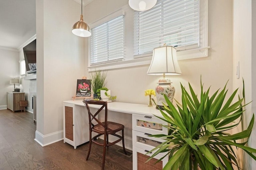
[[[78,79],[76,84],[76,97],[91,96],[91,80]]]

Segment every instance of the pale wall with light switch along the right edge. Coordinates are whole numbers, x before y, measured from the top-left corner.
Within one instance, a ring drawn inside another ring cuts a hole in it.
[[[242,94],[242,78],[244,78],[244,86],[245,86],[245,103],[249,103],[252,100],[252,103],[246,106],[246,111],[243,116],[244,124],[241,129],[245,129],[248,127],[250,119],[252,118],[252,113],[256,111],[256,98],[255,98],[255,76],[256,70],[254,65],[255,61],[255,12],[256,12],[256,3],[254,2],[254,11],[252,11],[252,0],[240,1],[234,0],[234,30],[233,30],[233,54],[234,54],[234,62],[233,62],[233,72],[236,72],[236,65],[238,61],[240,62],[240,79],[236,79],[234,75],[233,84],[234,89],[240,88],[240,94]],[[254,15],[253,15],[254,14]],[[254,16],[254,25],[252,27],[252,16]],[[254,29],[252,29],[254,28]],[[254,39],[252,40],[252,33],[254,35]],[[254,55],[252,55],[254,52]],[[254,57],[253,57],[254,56]],[[254,74],[253,74],[254,73]],[[248,146],[256,148],[255,145],[255,135],[256,135],[256,126],[254,124],[254,128],[252,134],[248,141]],[[239,153],[242,153],[241,150],[238,150]],[[253,167],[256,166],[256,161],[253,160],[248,154],[244,153],[244,164],[243,169],[252,170]],[[241,157],[240,157],[241,158]]]

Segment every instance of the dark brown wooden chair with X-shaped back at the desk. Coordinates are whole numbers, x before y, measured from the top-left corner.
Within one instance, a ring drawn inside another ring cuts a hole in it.
[[[100,100],[83,100],[83,102],[84,102],[84,104],[85,104],[85,106],[86,106],[86,108],[88,110],[89,127],[90,127],[89,128],[90,129],[89,150],[88,150],[88,154],[87,154],[86,160],[88,160],[88,158],[89,158],[91,147],[92,147],[92,142],[97,144],[97,145],[103,146],[102,170],[104,170],[106,147],[114,145],[114,144],[116,144],[116,143],[118,143],[119,141],[122,140],[124,153],[127,154],[126,150],[124,148],[124,125],[108,121],[108,103],[107,102],[100,101]],[[100,107],[100,109],[98,109],[98,111],[96,111],[96,113],[93,114],[90,111],[90,107],[88,106],[88,104],[96,104],[96,105],[102,105],[102,106]],[[105,108],[105,121],[104,122],[100,122],[96,118],[96,116],[104,108]],[[93,120],[95,120],[98,124],[94,125],[92,123]],[[121,130],[122,130],[122,136],[117,135],[116,132],[121,131]],[[98,133],[98,135],[92,137],[92,132],[96,132],[96,133]],[[103,144],[102,143],[98,143],[97,141],[95,141],[95,139],[97,137],[100,137],[101,135],[104,135]],[[119,139],[114,141],[114,142],[112,142],[112,143],[109,143],[108,142],[108,135],[114,135],[116,137],[119,137]],[[94,140],[92,140],[92,139],[94,139]]]

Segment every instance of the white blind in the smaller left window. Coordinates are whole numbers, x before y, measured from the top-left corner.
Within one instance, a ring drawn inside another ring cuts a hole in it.
[[[124,16],[91,29],[90,65],[124,59]]]

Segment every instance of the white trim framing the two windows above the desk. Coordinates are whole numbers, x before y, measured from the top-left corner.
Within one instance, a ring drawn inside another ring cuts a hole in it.
[[[200,22],[200,46],[196,49],[188,49],[184,51],[177,51],[178,60],[192,59],[198,57],[208,56],[208,0],[199,0],[199,22]],[[116,68],[124,68],[130,66],[140,66],[151,63],[152,52],[143,55],[134,56],[134,10],[128,6],[128,4],[121,9],[107,15],[102,16],[99,20],[94,23],[90,23],[90,28],[96,27],[109,21],[111,19],[124,15],[124,60],[123,61],[113,61],[110,63],[102,63],[90,65],[90,37],[88,39],[88,71],[95,70],[108,70]],[[181,50],[181,49],[180,49]]]

